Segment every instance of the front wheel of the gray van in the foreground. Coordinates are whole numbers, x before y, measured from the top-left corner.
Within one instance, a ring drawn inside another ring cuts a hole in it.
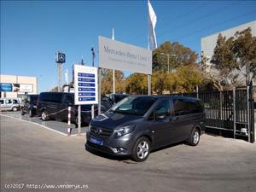
[[[132,150],[132,159],[142,162],[148,159],[150,153],[150,142],[147,137],[140,137]]]

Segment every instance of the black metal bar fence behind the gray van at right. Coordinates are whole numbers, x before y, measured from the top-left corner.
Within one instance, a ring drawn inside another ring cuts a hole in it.
[[[206,128],[232,131],[254,143],[253,86],[228,91],[173,94],[200,98],[206,112]]]

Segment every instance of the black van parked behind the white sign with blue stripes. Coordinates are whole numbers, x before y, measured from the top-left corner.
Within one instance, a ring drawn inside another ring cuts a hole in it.
[[[74,94],[67,92],[42,92],[38,96],[37,114],[42,120],[67,120],[68,106],[72,107],[71,121],[78,123],[78,107],[74,105]],[[81,123],[88,125],[91,119],[91,105],[81,105]],[[106,109],[102,106],[102,112]],[[95,115],[97,105],[95,107]]]

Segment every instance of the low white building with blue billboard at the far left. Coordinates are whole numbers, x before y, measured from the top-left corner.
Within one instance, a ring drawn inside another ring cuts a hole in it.
[[[1,97],[16,98],[25,94],[38,94],[38,79],[18,75],[0,74]]]

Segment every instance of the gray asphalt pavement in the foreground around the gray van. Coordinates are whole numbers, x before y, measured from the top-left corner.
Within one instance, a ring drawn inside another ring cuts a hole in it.
[[[67,137],[0,116],[1,191],[256,190],[256,144],[203,135],[196,147],[177,144],[136,163],[91,154],[85,136]]]

